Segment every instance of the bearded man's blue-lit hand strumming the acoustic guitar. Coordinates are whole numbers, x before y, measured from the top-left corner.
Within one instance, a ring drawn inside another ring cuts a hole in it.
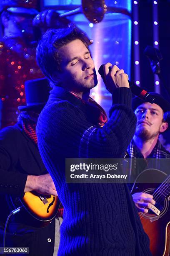
[[[135,193],[132,197],[138,212],[148,213],[148,209],[156,203],[155,200],[153,200],[153,195],[143,192]]]

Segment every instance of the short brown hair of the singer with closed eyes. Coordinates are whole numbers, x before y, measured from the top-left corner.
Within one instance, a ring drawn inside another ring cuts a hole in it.
[[[37,46],[37,64],[49,79],[51,87],[55,84],[51,75],[62,71],[62,59],[58,50],[76,39],[80,39],[87,48],[91,44],[87,35],[72,24],[67,28],[49,29],[42,36]]]

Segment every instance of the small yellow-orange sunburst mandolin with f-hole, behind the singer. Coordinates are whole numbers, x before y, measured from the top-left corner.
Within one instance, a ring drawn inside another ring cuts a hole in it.
[[[10,196],[10,201],[13,207],[21,207],[20,212],[27,215],[28,223],[36,227],[48,225],[62,207],[58,197],[42,195],[35,191],[25,192],[23,198]]]

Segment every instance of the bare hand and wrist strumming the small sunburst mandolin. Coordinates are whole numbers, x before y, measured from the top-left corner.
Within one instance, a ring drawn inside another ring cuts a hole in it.
[[[24,192],[36,191],[43,195],[57,196],[54,182],[49,173],[35,176],[28,175]]]

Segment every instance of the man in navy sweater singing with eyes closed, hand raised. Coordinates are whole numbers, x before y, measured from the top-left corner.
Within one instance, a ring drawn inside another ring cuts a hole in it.
[[[37,46],[37,62],[52,87],[37,123],[38,144],[65,209],[58,255],[150,255],[125,184],[65,182],[66,158],[121,158],[135,132],[122,69],[104,65],[113,99],[107,123],[105,111],[89,97],[97,77],[88,46],[87,37],[72,26],[47,31]]]

